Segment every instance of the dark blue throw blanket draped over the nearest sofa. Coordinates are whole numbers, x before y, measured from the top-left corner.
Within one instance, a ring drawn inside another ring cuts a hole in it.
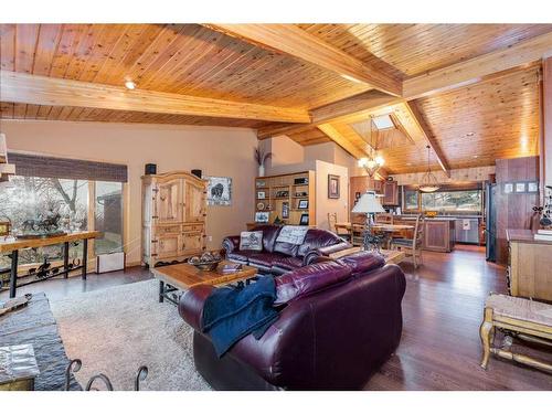
[[[243,288],[223,287],[211,293],[203,306],[202,329],[211,337],[219,358],[252,332],[255,339],[263,337],[278,318],[273,308],[275,299],[276,285],[270,276]]]

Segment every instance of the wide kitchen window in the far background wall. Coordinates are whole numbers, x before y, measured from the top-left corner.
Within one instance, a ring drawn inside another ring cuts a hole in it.
[[[422,193],[422,210],[424,211],[479,213],[481,208],[481,190]]]

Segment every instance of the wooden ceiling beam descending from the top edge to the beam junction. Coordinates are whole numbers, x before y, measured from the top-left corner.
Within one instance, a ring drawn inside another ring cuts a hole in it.
[[[339,73],[352,82],[363,82],[381,92],[401,96],[402,79],[391,74],[393,67],[372,55],[365,63],[306,32],[295,24],[205,24],[210,29],[240,38],[264,49]],[[382,68],[383,67],[383,68]]]

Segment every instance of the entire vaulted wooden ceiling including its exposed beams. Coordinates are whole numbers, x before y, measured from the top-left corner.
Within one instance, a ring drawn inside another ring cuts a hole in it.
[[[394,114],[388,172],[534,155],[551,24],[1,24],[3,119],[214,125],[336,141]],[[136,89],[124,88],[126,81]]]

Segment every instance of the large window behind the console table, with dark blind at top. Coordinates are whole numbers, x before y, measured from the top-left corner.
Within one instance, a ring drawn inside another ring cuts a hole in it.
[[[55,217],[62,231],[104,232],[94,243],[96,254],[123,250],[126,166],[17,152],[10,152],[9,159],[18,176],[0,183],[0,220],[11,222],[13,234],[38,230],[33,229],[36,222]],[[81,257],[82,246],[70,246],[70,259]],[[62,258],[62,248],[57,245],[21,250],[19,262],[24,265],[57,261]],[[0,268],[10,264],[8,255],[0,255]]]

